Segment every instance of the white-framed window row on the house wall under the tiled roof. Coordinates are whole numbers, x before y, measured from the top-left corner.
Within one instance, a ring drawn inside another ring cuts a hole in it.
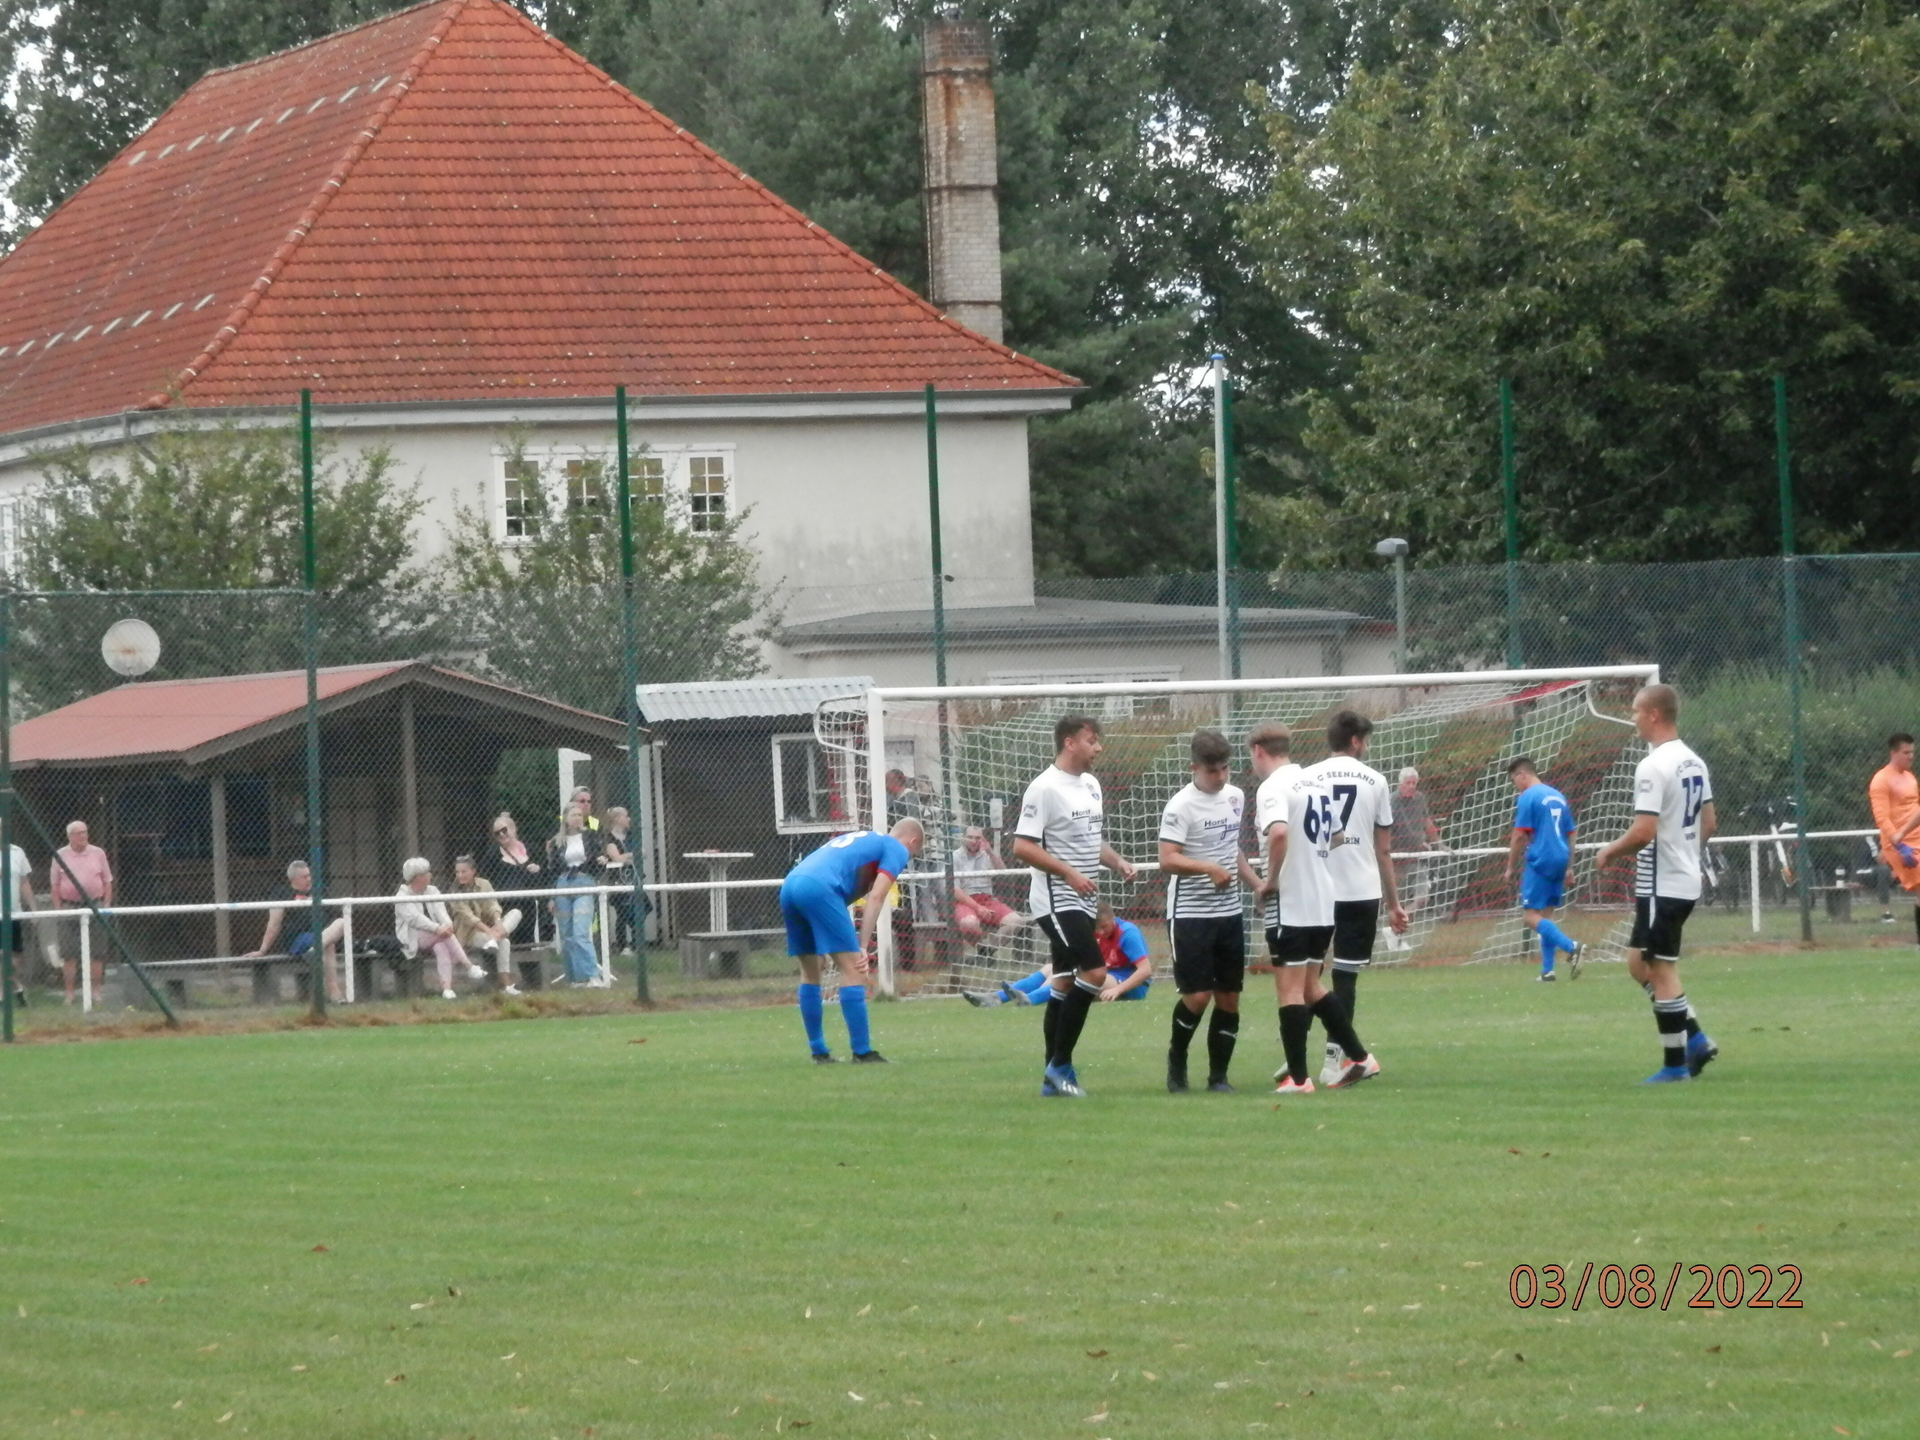
[[[495,449],[493,536],[524,543],[543,516],[580,513],[599,530],[612,513],[614,461],[582,445]],[[634,499],[660,505],[699,536],[733,515],[732,445],[649,445],[632,461]]]

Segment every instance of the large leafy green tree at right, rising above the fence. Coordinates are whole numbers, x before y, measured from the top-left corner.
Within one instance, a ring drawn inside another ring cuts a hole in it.
[[[1496,557],[1511,376],[1532,557],[1766,553],[1784,372],[1803,540],[1920,545],[1916,77],[1912,4],[1478,0],[1275,115],[1248,232],[1352,363],[1277,541]]]

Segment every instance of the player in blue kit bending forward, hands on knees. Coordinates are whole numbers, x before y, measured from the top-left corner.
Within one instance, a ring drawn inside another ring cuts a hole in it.
[[[920,854],[925,831],[918,820],[900,820],[889,833],[854,829],[835,835],[787,872],[780,885],[780,916],[787,922],[787,954],[801,962],[801,1023],[816,1066],[831,1066],[826,1037],[826,1000],[820,995],[822,962],[839,968],[841,1020],[854,1064],[881,1066],[866,1031],[866,948],[887,904],[895,876]],[[864,899],[860,931],[847,906]]]

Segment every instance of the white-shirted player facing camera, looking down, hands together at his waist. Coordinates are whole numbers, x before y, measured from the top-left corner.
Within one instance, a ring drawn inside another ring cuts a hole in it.
[[[1160,874],[1167,876],[1167,945],[1173,950],[1173,1039],[1167,1044],[1167,1092],[1187,1089],[1187,1048],[1208,1002],[1206,1087],[1233,1094],[1227,1066],[1240,1033],[1240,989],[1246,981],[1246,914],[1240,885],[1260,877],[1240,852],[1246,795],[1227,783],[1233,747],[1217,730],[1192,737],[1192,780],[1160,816]]]

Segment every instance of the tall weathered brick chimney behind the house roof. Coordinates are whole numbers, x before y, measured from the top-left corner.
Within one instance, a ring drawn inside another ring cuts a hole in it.
[[[1000,182],[987,25],[929,19],[922,31],[927,288],[943,311],[989,340],[1000,323]]]

